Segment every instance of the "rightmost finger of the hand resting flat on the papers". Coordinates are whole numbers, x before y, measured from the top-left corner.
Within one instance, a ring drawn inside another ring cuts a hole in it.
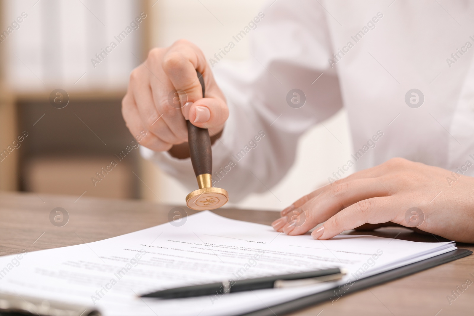
[[[329,218],[311,235],[314,239],[329,239],[365,223],[389,222],[394,217],[393,200],[392,197],[378,197],[359,201]]]

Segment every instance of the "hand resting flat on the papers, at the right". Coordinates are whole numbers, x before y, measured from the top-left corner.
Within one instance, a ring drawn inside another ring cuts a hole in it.
[[[281,215],[272,226],[287,235],[325,222],[312,232],[314,239],[392,222],[474,243],[474,178],[393,158],[311,192]]]

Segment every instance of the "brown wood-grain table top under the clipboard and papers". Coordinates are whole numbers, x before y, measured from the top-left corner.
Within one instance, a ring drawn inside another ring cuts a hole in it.
[[[77,198],[0,192],[0,255],[90,243],[134,232],[167,222],[168,213],[173,208],[137,200]],[[67,225],[57,227],[50,222],[50,212],[56,207],[67,210]],[[189,215],[195,213],[182,208]],[[266,225],[279,217],[273,211],[231,208],[219,209],[215,213]],[[444,240],[395,227],[380,229],[372,235],[394,238],[398,233],[399,239],[424,242]],[[474,250],[473,244],[457,245]],[[306,308],[292,315],[472,315],[474,284],[464,292],[458,291],[460,295],[451,305],[447,300],[448,295],[452,296],[451,291],[461,287],[467,279],[474,282],[474,255],[346,295],[333,303]]]

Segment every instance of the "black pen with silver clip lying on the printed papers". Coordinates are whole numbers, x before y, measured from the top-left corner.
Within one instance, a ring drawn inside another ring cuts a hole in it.
[[[210,284],[200,284],[184,286],[174,289],[164,289],[145,295],[142,298],[188,298],[203,295],[227,294],[234,292],[249,291],[254,289],[288,288],[295,286],[305,286],[320,282],[339,280],[346,274],[344,269],[327,269],[284,275],[274,275],[270,277],[226,280]]]

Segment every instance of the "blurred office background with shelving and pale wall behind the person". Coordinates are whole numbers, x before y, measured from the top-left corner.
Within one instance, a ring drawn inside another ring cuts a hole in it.
[[[124,152],[133,141],[120,111],[129,73],[149,49],[179,38],[209,59],[273,1],[2,0],[0,190],[184,204],[189,192],[177,181],[139,149]],[[216,67],[245,60],[248,37]],[[341,110],[301,138],[272,192],[233,206],[281,210],[327,184],[351,148]]]

